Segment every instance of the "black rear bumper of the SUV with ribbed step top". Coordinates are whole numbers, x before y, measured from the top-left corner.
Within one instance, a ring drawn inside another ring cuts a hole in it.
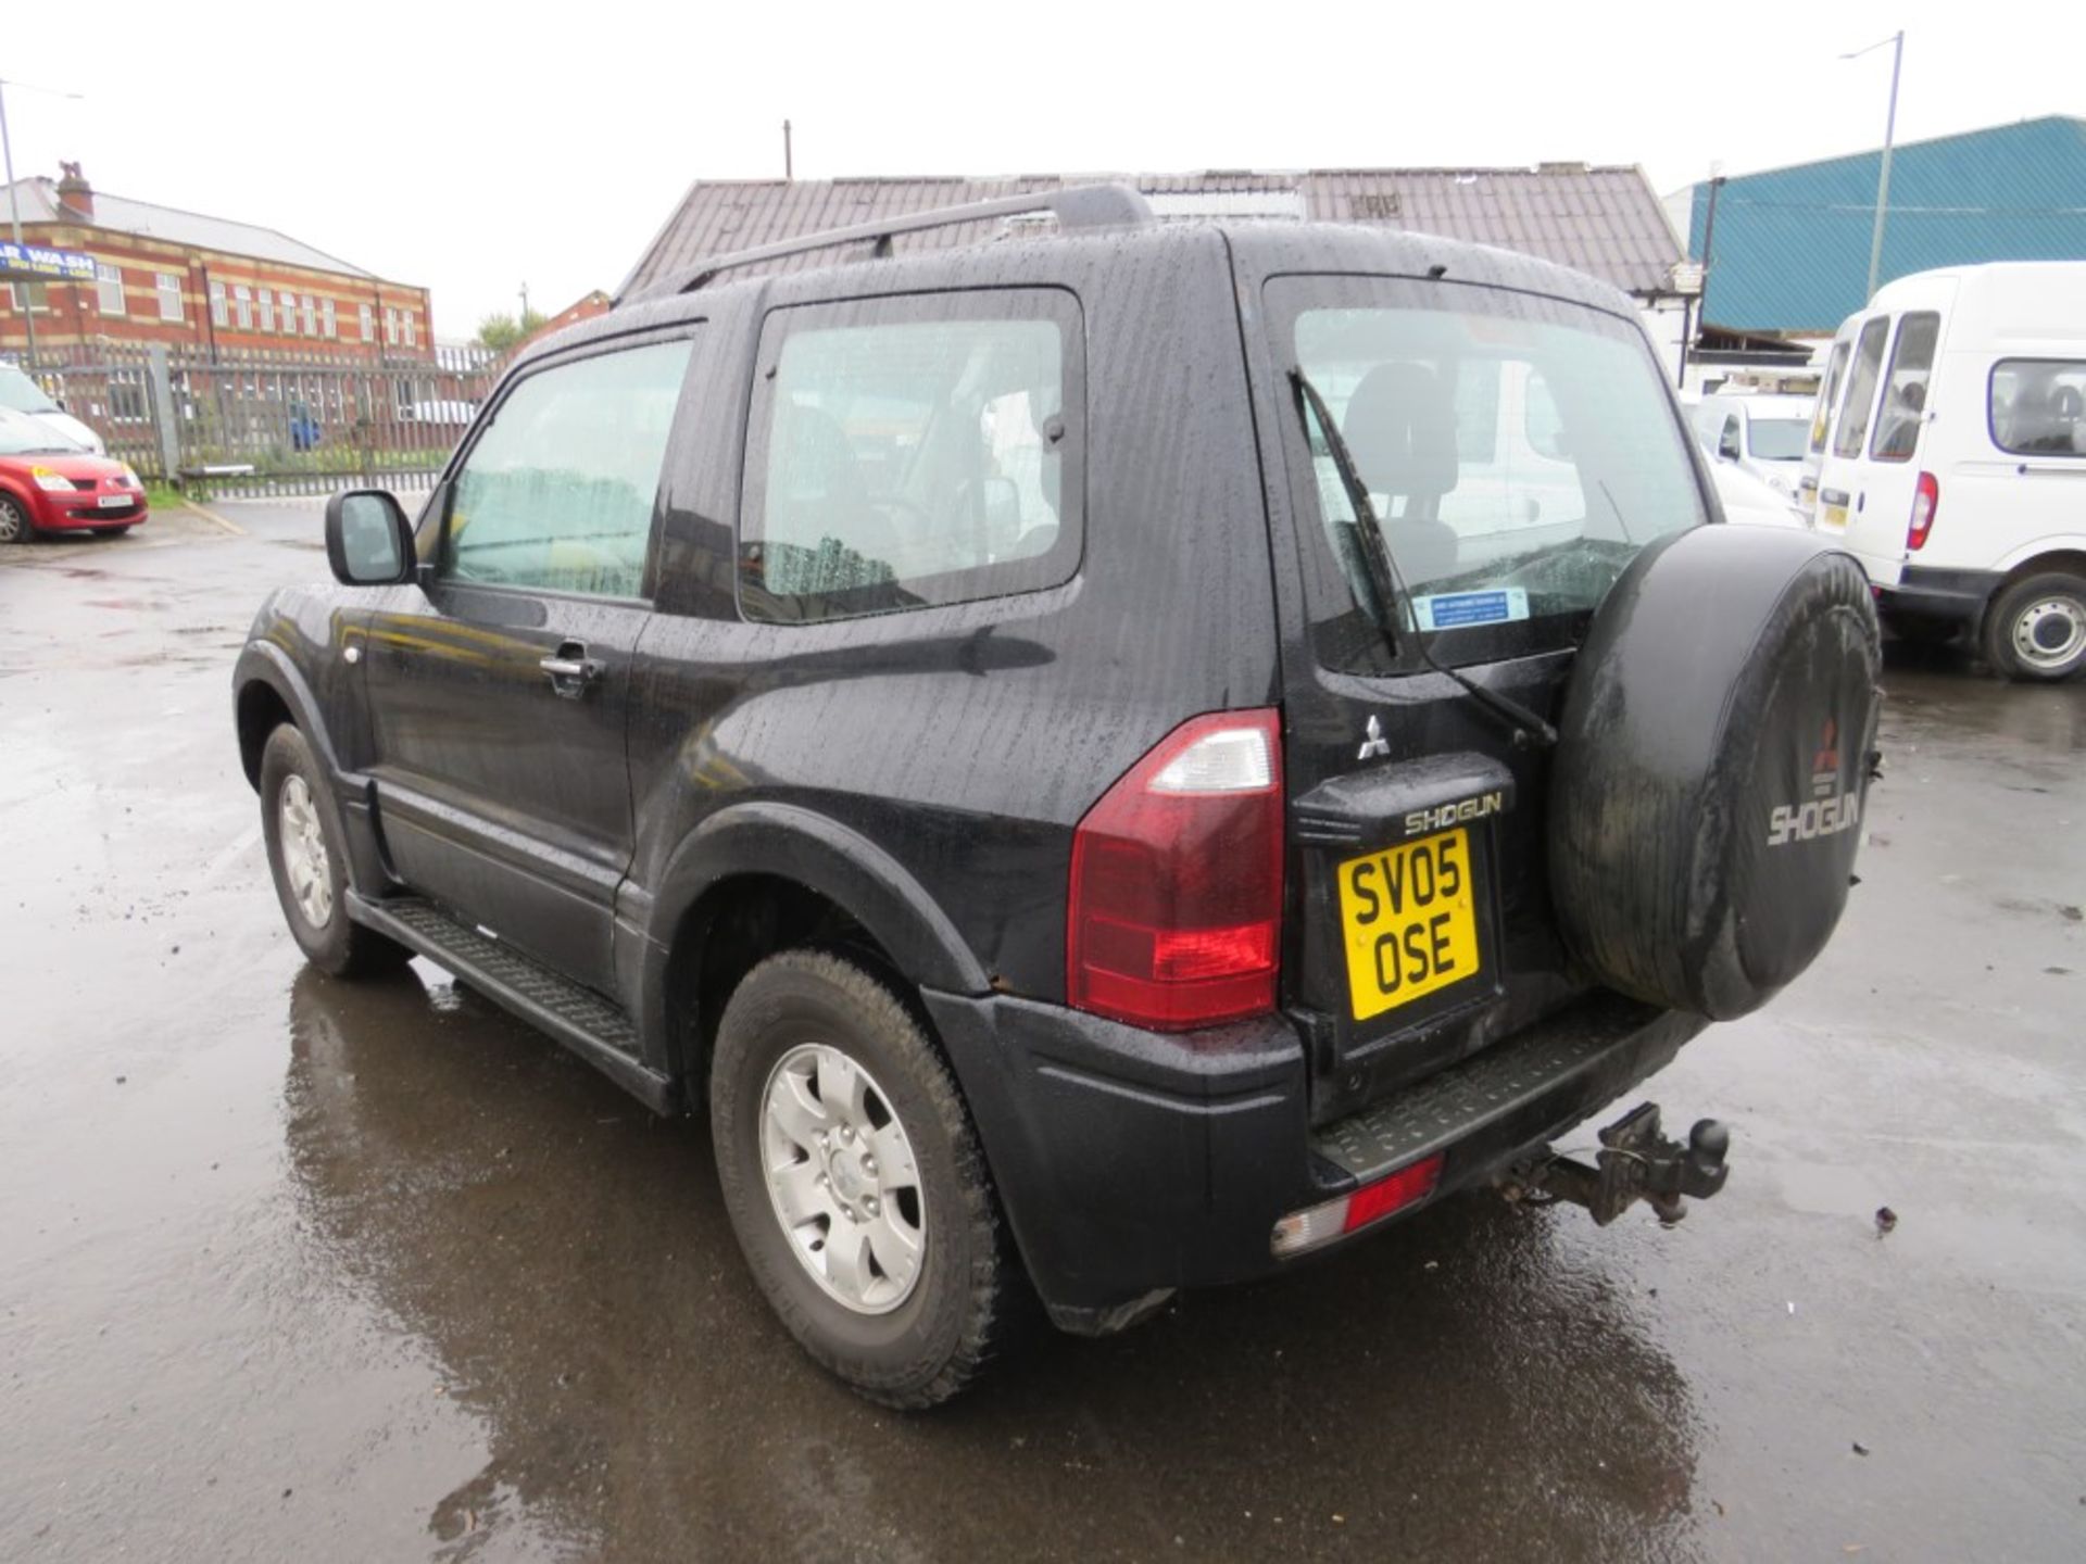
[[[926,1001],[1028,1274],[1083,1333],[1156,1293],[1283,1268],[1277,1220],[1435,1151],[1441,1178],[1406,1209],[1489,1182],[1706,1024],[1596,995],[1314,1132],[1304,1047],[1279,1018],[1189,1043],[1024,999]]]

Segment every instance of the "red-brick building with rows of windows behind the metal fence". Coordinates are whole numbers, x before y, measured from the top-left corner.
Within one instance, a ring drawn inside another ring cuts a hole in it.
[[[63,177],[0,186],[23,240],[94,256],[96,282],[0,284],[0,352],[167,344],[211,355],[423,361],[428,290],[382,277],[271,227],[96,194],[77,163]]]

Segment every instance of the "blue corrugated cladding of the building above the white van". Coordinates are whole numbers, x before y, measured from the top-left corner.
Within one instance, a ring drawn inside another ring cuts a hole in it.
[[[1832,334],[1867,302],[1882,150],[1733,175],[1717,194],[1702,319]],[[1702,254],[1708,186],[1694,186]],[[2086,119],[2030,119],[1898,146],[1877,284],[1980,261],[2086,261]]]

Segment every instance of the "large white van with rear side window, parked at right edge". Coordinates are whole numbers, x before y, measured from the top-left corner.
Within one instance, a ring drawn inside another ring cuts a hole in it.
[[[1809,471],[1886,624],[1967,628],[2009,678],[2086,669],[2086,263],[1882,288],[1834,342]]]

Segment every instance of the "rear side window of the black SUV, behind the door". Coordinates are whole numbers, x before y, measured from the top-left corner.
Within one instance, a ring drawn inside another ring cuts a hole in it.
[[[1081,551],[1081,317],[1030,288],[782,309],[738,536],[749,619],[1035,592]]]

